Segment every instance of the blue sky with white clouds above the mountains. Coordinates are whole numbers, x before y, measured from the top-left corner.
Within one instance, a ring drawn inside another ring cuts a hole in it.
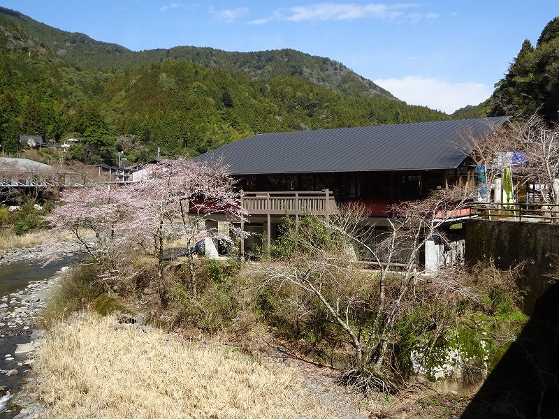
[[[131,50],[293,48],[342,62],[414,105],[453,112],[493,91],[557,0],[0,0],[66,31]]]

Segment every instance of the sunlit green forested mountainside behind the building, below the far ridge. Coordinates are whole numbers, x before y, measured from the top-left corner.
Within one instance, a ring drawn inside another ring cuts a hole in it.
[[[343,94],[321,85],[321,80],[283,75],[282,62],[289,69],[303,63],[298,57],[314,60],[300,52],[246,54],[257,58],[262,68],[254,74],[261,71],[262,77],[247,77],[249,71],[241,75],[226,64],[231,57],[242,57],[240,53],[228,58],[225,52],[214,54],[223,68],[180,57],[161,62],[131,58],[129,64],[123,61],[110,70],[86,65],[112,57],[110,51],[123,57],[159,54],[98,43],[3,9],[0,142],[6,152],[17,151],[20,134],[57,141],[74,135],[80,143],[68,154],[86,163],[114,163],[117,150],[124,151],[129,161],[146,161],[157,155],[158,147],[167,156],[194,155],[256,133],[448,119],[442,112],[386,97],[388,93],[368,97],[363,91],[351,91],[356,84],[347,84],[351,94]],[[208,57],[212,51],[200,50]],[[266,57],[279,58],[268,68]],[[324,66],[328,62],[333,61]]]

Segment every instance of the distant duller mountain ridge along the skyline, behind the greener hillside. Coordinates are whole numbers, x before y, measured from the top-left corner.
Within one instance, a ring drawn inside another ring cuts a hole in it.
[[[120,45],[95,41],[85,34],[60,31],[6,8],[0,8],[0,14],[27,31],[27,41],[42,45],[50,54],[82,69],[112,71],[169,60],[187,60],[242,74],[249,79],[294,77],[344,94],[394,98],[389,91],[337,61],[296,50],[226,52],[210,47],[173,47],[134,52]]]

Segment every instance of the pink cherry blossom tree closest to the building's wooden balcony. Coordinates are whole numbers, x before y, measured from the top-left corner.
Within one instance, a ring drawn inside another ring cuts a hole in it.
[[[191,248],[197,239],[232,242],[231,235],[244,237],[246,233],[233,225],[247,212],[240,207],[234,179],[226,167],[187,159],[160,161],[154,164],[147,179],[132,184],[127,193],[134,197],[135,228],[141,244],[157,258],[158,276],[163,276],[164,238],[177,237],[187,241]],[[228,234],[220,233],[208,221],[229,221]],[[149,237],[149,240],[147,240]],[[196,294],[194,254],[189,252],[191,292]]]

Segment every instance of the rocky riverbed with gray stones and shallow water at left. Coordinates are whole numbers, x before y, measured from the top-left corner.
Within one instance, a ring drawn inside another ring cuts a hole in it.
[[[79,253],[73,244],[62,244],[64,262],[41,269],[39,248],[15,249],[0,256],[3,271],[0,284],[0,419],[45,418],[32,385],[25,384],[40,345],[41,331],[36,321],[45,308],[50,290],[61,279],[72,256]],[[2,275],[0,275],[1,277]],[[36,278],[41,279],[36,279]],[[14,287],[19,287],[13,290]],[[22,387],[23,385],[23,387]]]

